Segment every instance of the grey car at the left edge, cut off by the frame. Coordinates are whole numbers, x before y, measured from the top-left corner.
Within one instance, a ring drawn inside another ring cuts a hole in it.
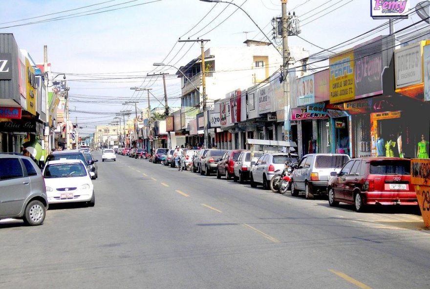
[[[42,225],[48,198],[41,170],[29,157],[0,154],[0,219]]]

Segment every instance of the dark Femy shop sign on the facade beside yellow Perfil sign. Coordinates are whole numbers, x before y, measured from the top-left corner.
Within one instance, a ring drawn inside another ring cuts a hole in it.
[[[382,94],[383,43],[378,37],[354,47],[356,99]]]

